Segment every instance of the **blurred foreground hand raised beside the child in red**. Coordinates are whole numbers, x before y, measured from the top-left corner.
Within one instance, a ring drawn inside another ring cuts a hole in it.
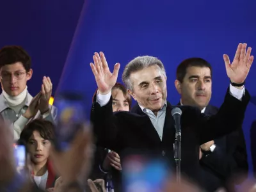
[[[90,173],[93,158],[92,131],[89,125],[77,131],[74,140],[69,144],[68,150],[57,151],[52,147],[51,161],[55,172],[61,175],[61,188],[72,182],[84,182]],[[65,190],[62,190],[65,191]]]

